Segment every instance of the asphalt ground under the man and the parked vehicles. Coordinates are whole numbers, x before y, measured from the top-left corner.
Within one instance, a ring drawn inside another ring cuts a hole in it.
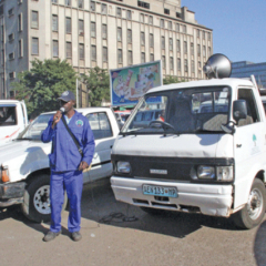
[[[70,238],[68,214],[62,215],[62,235],[44,243],[49,224],[29,222],[18,207],[1,209],[0,265],[266,265],[266,221],[239,231],[218,217],[151,216],[117,203],[109,181],[84,188],[81,242]]]

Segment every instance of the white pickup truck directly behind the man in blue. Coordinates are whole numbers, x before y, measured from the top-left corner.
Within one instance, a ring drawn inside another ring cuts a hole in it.
[[[111,150],[120,131],[114,112],[109,108],[76,111],[88,117],[95,139],[92,167],[84,173],[84,183],[111,176]],[[40,114],[17,140],[0,146],[0,207],[21,204],[23,214],[34,222],[50,219],[51,143],[42,143],[41,133],[53,114]]]

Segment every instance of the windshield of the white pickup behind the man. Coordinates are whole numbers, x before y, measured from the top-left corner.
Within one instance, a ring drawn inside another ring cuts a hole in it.
[[[41,140],[41,133],[47,129],[48,122],[53,114],[40,114],[32,123],[22,132],[19,140]]]

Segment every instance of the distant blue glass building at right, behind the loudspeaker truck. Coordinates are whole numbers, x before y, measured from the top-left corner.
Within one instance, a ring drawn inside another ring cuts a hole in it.
[[[250,78],[254,75],[259,89],[266,89],[266,63],[241,61],[232,63],[232,78]]]

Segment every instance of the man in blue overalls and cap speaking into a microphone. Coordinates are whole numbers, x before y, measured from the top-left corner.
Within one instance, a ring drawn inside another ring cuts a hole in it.
[[[49,154],[51,168],[51,226],[43,238],[44,242],[54,239],[61,233],[61,211],[64,201],[64,191],[66,191],[70,202],[69,232],[73,241],[81,239],[82,171],[91,164],[95,147],[88,119],[78,113],[73,108],[75,104],[74,94],[71,91],[65,91],[59,100],[61,111],[58,111],[50,119],[48,127],[41,136],[44,143],[52,141],[52,153]],[[62,115],[82,149],[83,156],[63,124]]]

